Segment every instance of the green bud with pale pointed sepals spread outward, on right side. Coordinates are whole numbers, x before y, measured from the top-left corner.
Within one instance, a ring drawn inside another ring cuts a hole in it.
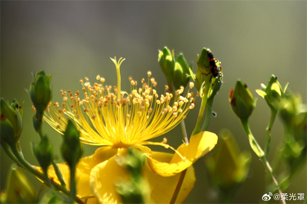
[[[277,77],[272,75],[268,86],[261,84],[262,90],[257,89],[256,92],[266,100],[271,109],[278,110],[280,99],[283,97],[287,86],[288,83],[286,84],[286,87],[284,87],[284,90],[282,90],[280,83],[277,81]]]

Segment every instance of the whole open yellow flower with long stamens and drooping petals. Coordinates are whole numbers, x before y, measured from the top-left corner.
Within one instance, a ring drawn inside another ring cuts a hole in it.
[[[177,186],[180,172],[187,173],[176,202],[183,202],[195,182],[191,166],[199,157],[209,152],[217,142],[211,132],[201,132],[191,137],[189,144],[182,144],[177,150],[163,142],[149,142],[178,125],[194,107],[193,93],[182,96],[181,88],[172,95],[159,96],[155,89],[157,82],[150,78],[142,79],[142,87],[130,78],[131,93],[121,91],[120,65],[124,59],[112,59],[116,65],[117,87],[104,86],[104,79],[97,76],[97,83],[91,85],[87,78],[80,80],[84,99],[80,93],[75,95],[63,92],[63,103],[54,103],[48,108],[46,121],[58,132],[64,132],[68,119],[80,131],[84,144],[102,146],[96,152],[81,158],[76,169],[77,196],[87,203],[121,203],[114,183],[127,176],[126,169],[117,164],[117,157],[125,155],[128,147],[138,148],[146,156],[143,175],[149,184],[150,203],[169,203]],[[192,86],[191,86],[192,87]],[[144,145],[159,145],[170,148],[174,154],[151,151]],[[69,167],[58,164],[65,182],[69,184]],[[49,176],[57,183],[53,167]]]

